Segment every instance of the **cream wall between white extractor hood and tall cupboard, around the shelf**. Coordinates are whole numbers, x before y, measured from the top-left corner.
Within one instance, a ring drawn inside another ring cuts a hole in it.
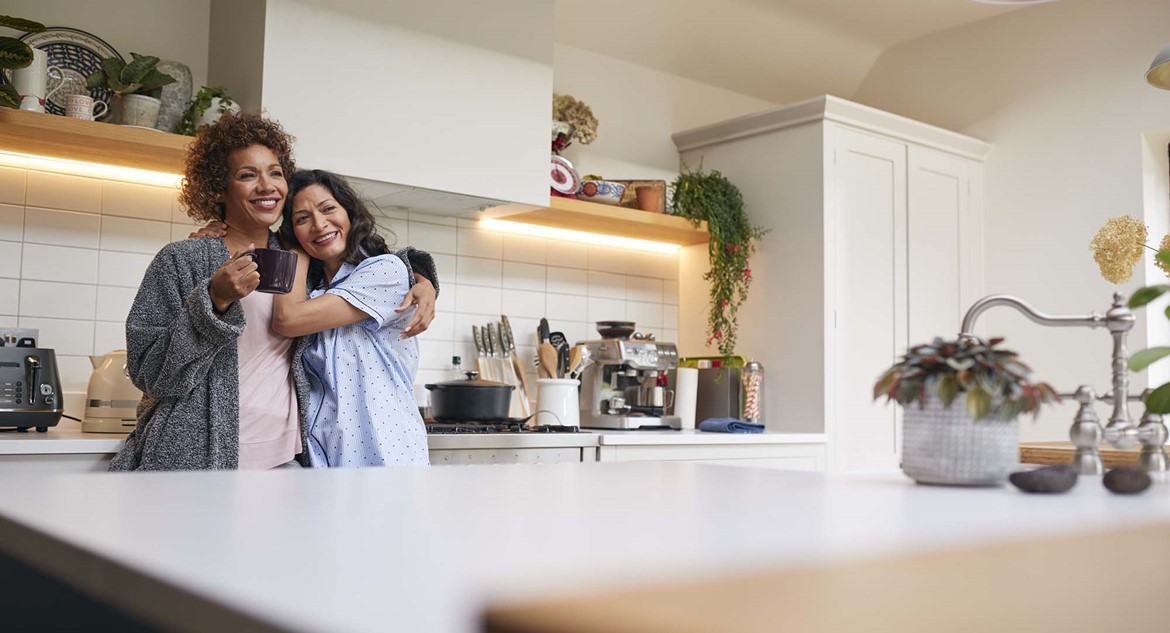
[[[670,183],[680,170],[672,133],[776,105],[569,46],[557,44],[553,60],[556,91],[587,103],[599,122],[593,143],[563,152],[581,176]],[[679,350],[689,356],[716,353],[704,343],[707,247],[684,248],[680,264],[684,310],[679,316]]]

